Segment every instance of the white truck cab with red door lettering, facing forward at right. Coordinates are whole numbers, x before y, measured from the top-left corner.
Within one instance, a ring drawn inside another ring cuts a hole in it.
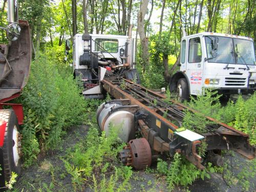
[[[170,91],[184,100],[204,94],[205,88],[222,94],[256,89],[253,39],[211,32],[182,38],[180,70],[170,80]]]

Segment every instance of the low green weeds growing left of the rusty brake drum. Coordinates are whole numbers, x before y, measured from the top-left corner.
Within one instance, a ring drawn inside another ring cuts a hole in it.
[[[95,106],[92,108],[95,109]],[[67,154],[67,159],[63,160],[72,176],[74,189],[81,190],[84,183],[93,182],[91,188],[94,191],[128,190],[131,167],[115,165],[118,163],[117,154],[123,147],[117,136],[118,127],[111,125],[110,135],[106,138],[104,132],[99,136],[96,123],[89,120],[87,124],[90,130],[86,139],[77,143],[74,150]]]

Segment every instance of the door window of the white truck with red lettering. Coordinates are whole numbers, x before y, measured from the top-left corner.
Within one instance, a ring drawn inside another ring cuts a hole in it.
[[[189,39],[188,62],[201,62],[202,48],[200,37]]]

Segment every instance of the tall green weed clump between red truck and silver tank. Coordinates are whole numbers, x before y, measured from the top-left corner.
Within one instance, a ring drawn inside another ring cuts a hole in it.
[[[40,55],[33,61],[20,98],[25,108],[22,129],[25,165],[33,162],[39,147],[43,151],[56,147],[63,131],[81,123],[85,105],[79,93],[72,74],[60,76],[54,60]]]

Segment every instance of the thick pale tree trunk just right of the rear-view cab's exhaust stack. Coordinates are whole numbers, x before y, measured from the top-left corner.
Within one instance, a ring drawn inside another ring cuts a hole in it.
[[[146,37],[144,30],[144,17],[147,11],[147,5],[148,0],[143,0],[140,10],[138,12],[138,33],[140,36],[140,42],[142,47],[142,72],[145,72],[145,68],[149,64],[148,38]]]

